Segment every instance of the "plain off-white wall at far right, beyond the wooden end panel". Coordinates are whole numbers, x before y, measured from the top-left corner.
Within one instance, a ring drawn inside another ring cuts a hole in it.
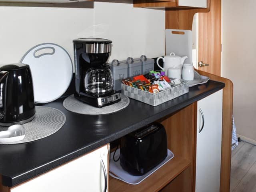
[[[234,83],[237,133],[256,140],[256,1],[223,0],[222,74]]]

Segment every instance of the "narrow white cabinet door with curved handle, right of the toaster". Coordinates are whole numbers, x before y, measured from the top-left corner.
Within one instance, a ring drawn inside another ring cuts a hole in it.
[[[198,101],[197,108],[196,192],[218,192],[220,191],[222,90]]]

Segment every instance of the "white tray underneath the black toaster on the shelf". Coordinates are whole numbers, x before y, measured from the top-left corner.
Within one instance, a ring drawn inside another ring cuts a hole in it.
[[[133,176],[128,172],[126,172],[125,170],[123,170],[123,168],[120,166],[120,160],[118,160],[117,162],[114,162],[113,154],[114,152],[110,154],[109,175],[118,180],[121,180],[123,182],[132,184],[132,185],[140,184],[148,176],[153,174],[156,170],[158,170],[160,167],[162,167],[164,164],[166,164],[168,161],[170,161],[174,157],[174,154],[168,149],[166,158],[160,164],[158,164],[156,167],[154,167],[152,170],[150,170],[149,172],[147,172],[142,176]],[[115,159],[118,159],[119,155],[120,155],[120,149],[116,150]]]

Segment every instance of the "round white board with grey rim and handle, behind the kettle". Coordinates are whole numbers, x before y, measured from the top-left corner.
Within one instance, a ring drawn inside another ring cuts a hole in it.
[[[20,62],[30,66],[36,103],[52,102],[68,89],[73,65],[68,52],[61,46],[39,44],[28,50]]]

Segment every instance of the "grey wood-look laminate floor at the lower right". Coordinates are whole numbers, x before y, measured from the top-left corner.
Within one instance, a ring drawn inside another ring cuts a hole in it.
[[[241,141],[232,151],[230,192],[256,192],[256,146]]]

